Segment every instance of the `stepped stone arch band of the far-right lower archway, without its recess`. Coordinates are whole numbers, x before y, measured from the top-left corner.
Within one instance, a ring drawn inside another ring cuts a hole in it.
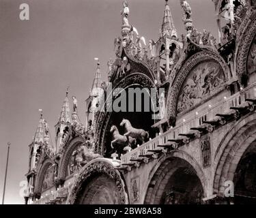
[[[213,191],[224,196],[225,181],[233,181],[242,155],[256,141],[256,114],[237,121],[218,146],[214,157]]]

